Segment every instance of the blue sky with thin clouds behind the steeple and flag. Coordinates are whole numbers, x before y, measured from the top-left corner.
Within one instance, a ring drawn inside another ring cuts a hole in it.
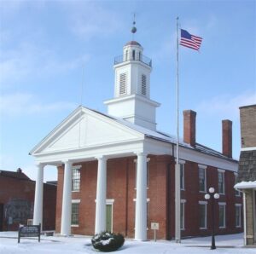
[[[256,103],[255,1],[0,0],[0,170],[20,167],[35,179],[28,153],[81,104],[82,85],[82,104],[106,113],[113,58],[132,38],[134,12],[135,40],[153,60],[158,130],[176,132],[179,16],[183,29],[203,38],[200,53],[180,48],[180,110],[197,112],[196,140],[218,151],[221,120],[232,120],[239,158],[238,107]],[[44,180],[55,177],[46,167]]]

